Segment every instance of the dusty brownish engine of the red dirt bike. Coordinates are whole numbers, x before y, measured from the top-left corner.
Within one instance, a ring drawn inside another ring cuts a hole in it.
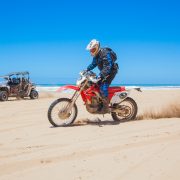
[[[95,114],[98,113],[101,107],[101,103],[98,97],[92,97],[91,103],[86,103],[86,109],[89,113]]]

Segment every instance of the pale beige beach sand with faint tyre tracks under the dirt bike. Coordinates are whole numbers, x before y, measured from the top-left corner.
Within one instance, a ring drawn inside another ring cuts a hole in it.
[[[47,110],[60,96],[69,95],[0,102],[1,180],[180,179],[180,118],[144,118],[178,107],[180,90],[133,91],[143,120],[125,123],[91,115],[78,100],[75,125],[53,128]]]

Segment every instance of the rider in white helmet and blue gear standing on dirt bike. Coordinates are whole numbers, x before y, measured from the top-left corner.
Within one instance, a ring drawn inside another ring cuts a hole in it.
[[[87,71],[94,69],[98,66],[100,74],[100,93],[102,96],[104,111],[109,110],[109,99],[108,99],[108,87],[112,80],[115,78],[118,72],[118,64],[115,63],[111,55],[112,50],[110,48],[101,48],[100,42],[93,39],[87,46],[87,50],[90,51],[93,56],[92,63],[87,67]]]

